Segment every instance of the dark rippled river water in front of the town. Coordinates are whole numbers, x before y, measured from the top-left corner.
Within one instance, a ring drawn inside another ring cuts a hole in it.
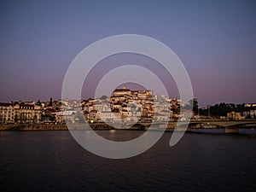
[[[142,131],[99,131],[127,140]],[[90,154],[68,131],[0,131],[1,191],[256,191],[256,137],[166,132],[125,160]]]

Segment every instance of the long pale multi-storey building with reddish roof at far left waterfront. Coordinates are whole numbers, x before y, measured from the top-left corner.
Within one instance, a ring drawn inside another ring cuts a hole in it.
[[[0,102],[0,124],[39,123],[42,106],[34,102]]]

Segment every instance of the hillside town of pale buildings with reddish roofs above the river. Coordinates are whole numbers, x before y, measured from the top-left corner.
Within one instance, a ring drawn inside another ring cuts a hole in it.
[[[64,124],[65,121],[75,123],[83,118],[90,123],[111,122],[114,119],[120,122],[175,121],[189,119],[188,113],[192,113],[192,119],[212,118],[210,110],[213,111],[213,107],[199,110],[196,99],[190,101],[190,108],[187,108],[188,105],[176,98],[154,96],[151,90],[129,90],[124,86],[114,90],[113,96],[83,101],[50,99],[49,102],[2,102],[0,124]],[[226,116],[218,116],[218,119],[255,118],[255,107],[255,104],[244,105],[242,112],[236,112],[234,107],[234,111],[226,113]],[[78,108],[84,117],[78,113]],[[204,113],[206,111],[207,114]]]

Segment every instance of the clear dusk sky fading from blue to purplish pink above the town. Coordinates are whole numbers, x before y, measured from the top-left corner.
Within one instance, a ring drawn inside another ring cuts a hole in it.
[[[148,36],[170,47],[201,107],[256,102],[255,1],[1,1],[0,26],[0,102],[60,99],[76,55],[119,34]],[[83,97],[94,96],[104,73],[131,63],[148,66],[169,96],[178,97],[172,76],[135,54],[98,63]]]

